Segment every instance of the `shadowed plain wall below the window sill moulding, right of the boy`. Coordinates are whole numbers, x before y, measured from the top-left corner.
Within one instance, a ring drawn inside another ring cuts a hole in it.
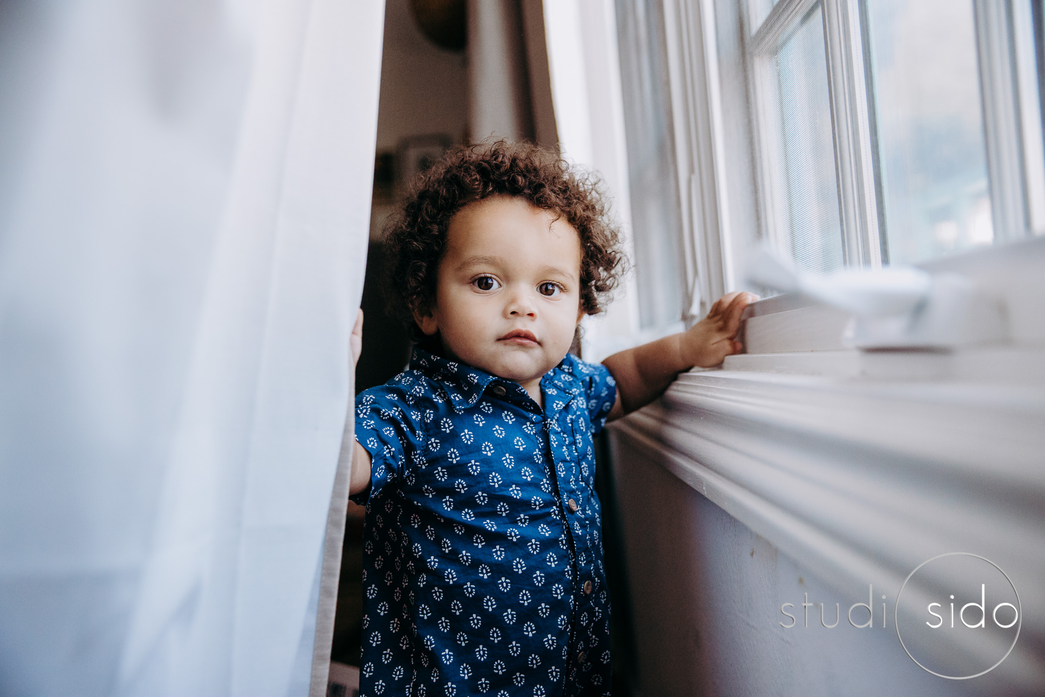
[[[626,556],[636,694],[693,695],[1011,695],[1000,675],[949,680],[904,652],[892,618],[876,612],[856,629],[846,609],[868,588],[839,596],[660,464],[610,431],[612,468]],[[810,502],[814,505],[815,502]],[[809,626],[802,603],[808,594]],[[797,620],[781,612],[783,603]],[[841,608],[838,626],[827,623]],[[861,611],[859,608],[857,611]],[[856,618],[856,611],[854,611]],[[861,619],[856,619],[861,622]],[[1004,669],[1004,664],[997,670]]]

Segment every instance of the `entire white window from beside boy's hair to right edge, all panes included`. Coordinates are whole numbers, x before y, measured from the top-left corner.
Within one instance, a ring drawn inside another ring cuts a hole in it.
[[[630,184],[619,203],[635,231],[637,293],[622,294],[634,308],[613,326],[628,331],[602,349],[675,330],[679,315],[698,320],[745,286],[763,241],[823,273],[1045,232],[1042,0],[610,7],[612,21],[578,28],[587,73],[612,78],[593,82],[589,98],[613,98],[583,116],[595,168],[622,192]],[[595,50],[609,45],[620,75]],[[604,153],[617,159],[595,163]],[[593,346],[606,333],[596,329]]]

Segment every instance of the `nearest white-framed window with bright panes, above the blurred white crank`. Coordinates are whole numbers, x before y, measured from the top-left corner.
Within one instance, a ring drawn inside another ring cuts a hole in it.
[[[761,233],[827,272],[1040,232],[1040,4],[751,0]]]

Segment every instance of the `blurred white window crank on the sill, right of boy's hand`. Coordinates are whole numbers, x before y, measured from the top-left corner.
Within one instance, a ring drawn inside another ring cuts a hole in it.
[[[1005,338],[1001,304],[956,273],[897,266],[814,276],[763,250],[747,279],[852,312],[842,343],[860,349],[949,349]]]

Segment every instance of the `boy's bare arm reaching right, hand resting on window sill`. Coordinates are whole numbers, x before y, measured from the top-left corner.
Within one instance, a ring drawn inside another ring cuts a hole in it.
[[[603,365],[617,381],[617,401],[607,421],[645,406],[659,397],[675,376],[694,366],[711,368],[743,347],[735,341],[740,316],[758,300],[750,293],[730,293],[720,298],[707,317],[689,331],[658,339],[614,353]]]

